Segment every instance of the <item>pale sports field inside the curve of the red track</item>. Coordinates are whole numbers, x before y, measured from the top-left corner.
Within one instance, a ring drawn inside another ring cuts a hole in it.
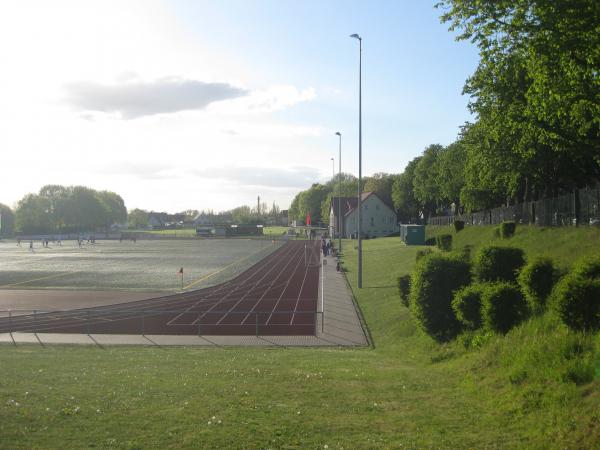
[[[0,289],[175,292],[233,278],[279,248],[268,239],[0,242]]]

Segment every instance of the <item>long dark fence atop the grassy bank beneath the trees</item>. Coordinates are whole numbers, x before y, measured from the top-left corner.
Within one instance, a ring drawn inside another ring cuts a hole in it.
[[[600,225],[600,188],[579,189],[554,198],[517,203],[472,214],[430,217],[429,225],[496,225],[504,221],[539,226]]]

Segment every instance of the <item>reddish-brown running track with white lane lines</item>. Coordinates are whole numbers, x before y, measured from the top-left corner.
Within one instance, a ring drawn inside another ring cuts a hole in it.
[[[319,241],[289,241],[206,289],[0,319],[0,333],[314,335]]]

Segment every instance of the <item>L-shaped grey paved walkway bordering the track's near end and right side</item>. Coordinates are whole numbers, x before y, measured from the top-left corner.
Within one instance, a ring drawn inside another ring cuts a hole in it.
[[[316,336],[172,336],[131,334],[3,333],[0,344],[152,345],[204,347],[321,347],[366,346],[365,332],[350,288],[336,260],[321,257]]]

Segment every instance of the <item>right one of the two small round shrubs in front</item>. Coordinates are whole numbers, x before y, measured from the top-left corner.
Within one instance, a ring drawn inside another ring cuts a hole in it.
[[[489,284],[482,291],[481,316],[487,329],[507,333],[527,315],[527,301],[518,286],[501,282]]]

